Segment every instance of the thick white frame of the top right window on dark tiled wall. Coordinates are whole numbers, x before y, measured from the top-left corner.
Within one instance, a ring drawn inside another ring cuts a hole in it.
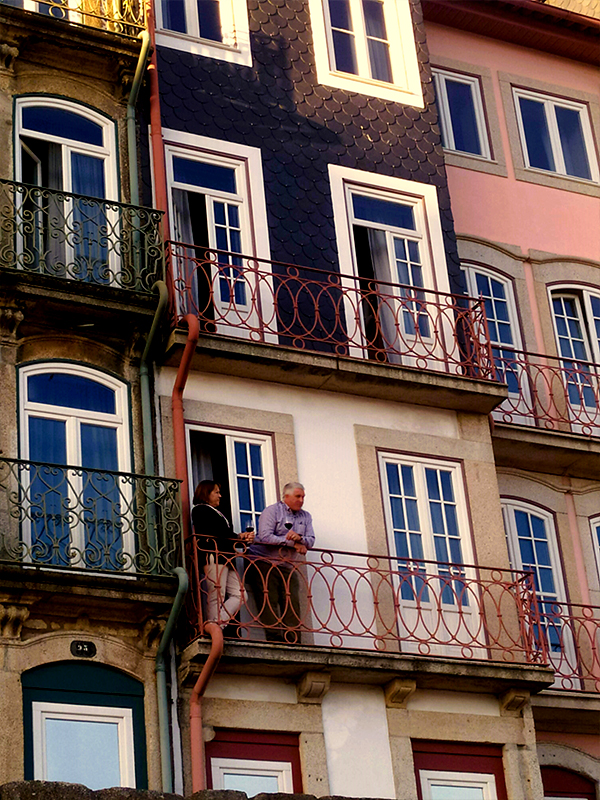
[[[360,0],[349,0],[355,8]],[[393,82],[380,81],[365,74],[341,72],[335,69],[333,41],[327,0],[309,0],[311,26],[317,64],[317,80],[325,86],[346,91],[359,92],[382,100],[424,108],[423,89],[419,74],[419,63],[414,38],[413,22],[408,0],[383,0],[387,41],[390,47]],[[360,16],[360,15],[359,15]],[[362,29],[362,25],[359,26]],[[357,31],[357,34],[361,32]],[[358,38],[358,36],[357,36]],[[366,53],[366,41],[361,41],[358,51]],[[365,56],[358,57],[368,63]]]

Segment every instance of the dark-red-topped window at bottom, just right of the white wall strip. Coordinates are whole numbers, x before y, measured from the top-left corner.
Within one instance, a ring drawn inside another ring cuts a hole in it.
[[[499,745],[413,740],[419,800],[507,800]]]

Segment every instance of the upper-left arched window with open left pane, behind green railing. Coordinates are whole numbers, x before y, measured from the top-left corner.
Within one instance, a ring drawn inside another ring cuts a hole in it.
[[[15,177],[49,190],[17,195],[24,268],[109,283],[118,265],[107,231],[118,221],[98,201],[118,199],[114,122],[61,98],[20,98],[15,109]]]

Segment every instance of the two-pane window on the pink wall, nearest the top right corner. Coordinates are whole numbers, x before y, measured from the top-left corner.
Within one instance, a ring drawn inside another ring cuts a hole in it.
[[[525,166],[598,182],[587,106],[513,89]]]

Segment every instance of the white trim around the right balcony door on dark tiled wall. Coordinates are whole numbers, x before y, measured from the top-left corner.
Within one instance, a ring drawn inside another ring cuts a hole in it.
[[[329,180],[331,184],[331,199],[333,203],[333,220],[338,245],[340,267],[342,273],[352,272],[357,275],[354,256],[354,241],[352,236],[351,209],[348,207],[348,187],[373,190],[387,193],[390,200],[410,203],[415,209],[416,233],[420,234],[423,241],[423,274],[431,276],[432,285],[425,285],[425,289],[440,292],[449,292],[448,267],[446,264],[446,251],[438,195],[435,186],[404,178],[394,178],[388,175],[378,175],[363,170],[341,167],[337,164],[329,165]],[[411,232],[414,237],[415,231]]]

